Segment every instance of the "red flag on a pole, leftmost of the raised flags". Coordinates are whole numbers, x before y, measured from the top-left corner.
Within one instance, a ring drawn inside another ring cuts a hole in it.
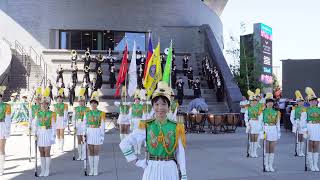
[[[126,80],[126,75],[128,71],[128,44],[126,44],[124,49],[124,54],[122,56],[121,66],[118,74],[118,79],[116,83],[116,93],[114,94],[115,97],[120,95],[120,86]]]

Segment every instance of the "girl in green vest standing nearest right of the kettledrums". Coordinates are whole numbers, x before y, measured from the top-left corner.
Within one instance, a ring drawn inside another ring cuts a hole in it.
[[[257,92],[257,91],[256,91]],[[258,93],[253,93],[248,90],[250,106],[244,114],[244,120],[246,122],[246,133],[250,135],[250,145],[249,145],[249,156],[258,157],[258,137],[262,132],[262,121],[259,119],[260,114],[262,113],[262,106],[257,101]]]

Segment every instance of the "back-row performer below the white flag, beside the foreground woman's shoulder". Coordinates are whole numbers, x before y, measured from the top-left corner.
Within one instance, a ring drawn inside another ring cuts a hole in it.
[[[137,89],[134,94],[134,103],[131,105],[129,110],[130,117],[130,129],[135,131],[138,129],[139,121],[142,119],[143,115],[143,105],[140,103],[140,90]],[[137,144],[134,146],[134,151],[136,154],[141,153],[141,145]]]

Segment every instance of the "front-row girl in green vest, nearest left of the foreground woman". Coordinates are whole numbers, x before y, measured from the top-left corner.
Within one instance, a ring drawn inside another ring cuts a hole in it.
[[[89,176],[98,175],[100,146],[104,141],[106,113],[97,109],[99,104],[98,92],[92,93],[91,110],[85,114],[86,138],[89,146]]]

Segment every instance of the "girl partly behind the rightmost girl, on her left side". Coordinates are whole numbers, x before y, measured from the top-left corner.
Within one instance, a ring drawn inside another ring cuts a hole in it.
[[[297,106],[293,107],[290,113],[290,121],[292,123],[292,132],[297,133],[298,135],[298,142],[297,142],[297,154],[300,157],[305,156],[304,154],[304,140],[303,134],[306,132],[306,127],[303,127],[301,124],[301,113],[305,111],[304,99],[300,93],[300,91],[295,92],[296,95],[296,102],[298,103]]]

